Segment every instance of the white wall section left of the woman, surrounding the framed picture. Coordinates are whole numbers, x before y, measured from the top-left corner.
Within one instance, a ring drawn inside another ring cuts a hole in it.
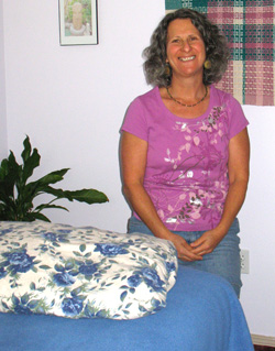
[[[68,204],[53,221],[125,231],[130,210],[121,195],[119,130],[130,101],[147,89],[141,52],[164,13],[151,0],[98,1],[99,45],[59,46],[58,1],[3,4],[9,149],[24,134],[42,155],[36,175],[70,167],[58,186],[105,191],[109,204]],[[66,202],[65,202],[66,204]]]

